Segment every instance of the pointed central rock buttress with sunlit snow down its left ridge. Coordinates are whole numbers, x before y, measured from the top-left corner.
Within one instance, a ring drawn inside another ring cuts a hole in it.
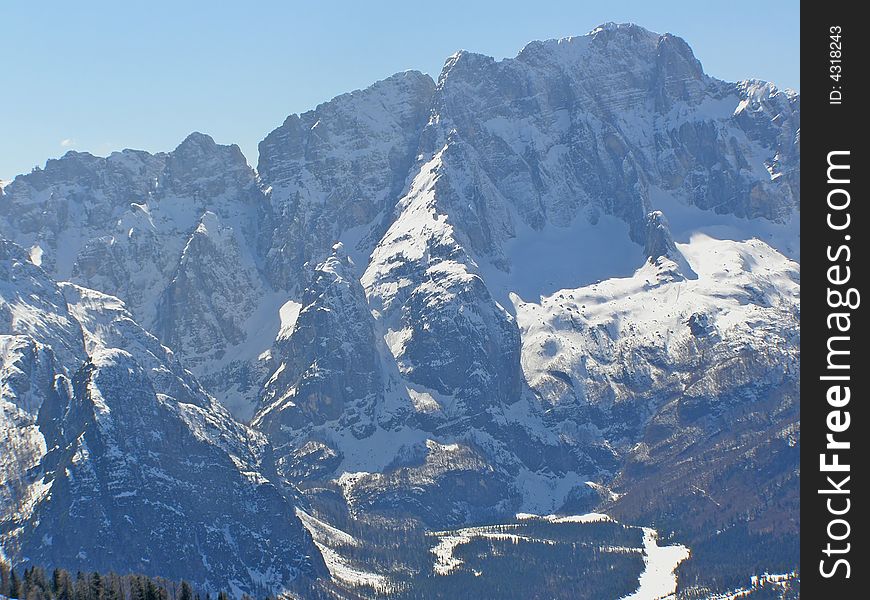
[[[519,332],[444,216],[461,193],[451,176],[437,160],[420,169],[362,282],[399,372],[459,415],[516,401]]]

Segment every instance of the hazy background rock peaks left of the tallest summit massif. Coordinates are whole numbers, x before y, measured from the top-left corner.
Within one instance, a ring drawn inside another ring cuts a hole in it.
[[[409,71],[288,117],[261,144],[262,181],[199,133],[169,153],[69,152],[4,186],[0,232],[54,277],[123,299],[247,420],[305,263],[340,238],[365,258],[385,229],[433,89]]]

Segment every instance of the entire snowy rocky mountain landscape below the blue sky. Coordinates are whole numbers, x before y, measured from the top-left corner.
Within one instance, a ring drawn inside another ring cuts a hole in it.
[[[799,594],[800,96],[608,23],[0,187],[0,559]],[[304,591],[300,591],[304,590]]]

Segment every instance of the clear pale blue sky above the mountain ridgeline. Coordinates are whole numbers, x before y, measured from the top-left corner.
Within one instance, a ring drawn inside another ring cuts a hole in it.
[[[707,73],[800,89],[799,0],[0,4],[0,179],[67,150],[171,150],[191,131],[257,143],[290,113],[459,49],[631,21],[685,38]]]

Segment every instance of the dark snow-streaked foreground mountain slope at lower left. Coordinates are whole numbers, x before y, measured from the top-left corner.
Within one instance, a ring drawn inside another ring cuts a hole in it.
[[[322,569],[236,423],[112,296],[0,246],[2,554],[262,593]]]

